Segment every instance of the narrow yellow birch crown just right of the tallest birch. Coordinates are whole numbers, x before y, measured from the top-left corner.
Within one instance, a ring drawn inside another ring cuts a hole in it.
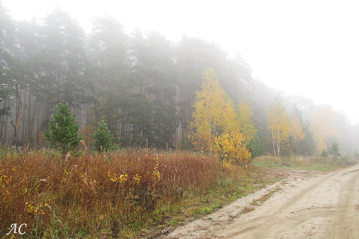
[[[252,120],[253,110],[246,99],[241,99],[238,104],[238,128],[246,139],[252,139],[256,134],[255,123]]]

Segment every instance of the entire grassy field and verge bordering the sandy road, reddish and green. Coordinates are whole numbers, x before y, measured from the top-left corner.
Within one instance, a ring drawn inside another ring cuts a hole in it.
[[[64,160],[48,150],[3,150],[0,238],[11,238],[5,233],[13,223],[28,225],[22,238],[146,237],[279,180],[263,168],[327,171],[344,163],[265,156],[228,171],[215,156],[181,151],[122,149]]]

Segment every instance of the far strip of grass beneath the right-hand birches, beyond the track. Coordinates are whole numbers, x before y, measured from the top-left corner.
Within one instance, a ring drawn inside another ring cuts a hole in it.
[[[342,167],[354,165],[356,162],[353,159],[334,159],[327,158],[324,162],[321,158],[316,157],[274,157],[274,156],[261,156],[255,158],[253,164],[262,168],[293,168],[317,171],[330,171]]]

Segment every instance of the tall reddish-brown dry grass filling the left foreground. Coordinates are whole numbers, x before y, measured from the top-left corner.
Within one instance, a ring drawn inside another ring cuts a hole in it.
[[[26,223],[32,238],[67,238],[142,225],[160,205],[201,194],[229,177],[218,159],[122,149],[61,159],[53,151],[0,154],[0,235]]]

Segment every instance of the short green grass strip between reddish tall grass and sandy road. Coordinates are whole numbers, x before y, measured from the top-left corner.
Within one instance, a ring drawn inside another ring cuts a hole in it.
[[[186,219],[211,213],[239,197],[246,196],[279,180],[274,176],[264,176],[262,169],[257,166],[252,166],[250,169],[234,166],[231,173],[229,178],[215,181],[213,186],[201,195],[193,194],[172,209],[160,208],[159,216],[152,221],[151,225],[143,229],[143,233],[145,234],[148,230],[176,226]],[[141,236],[143,233],[137,234],[137,236]]]

